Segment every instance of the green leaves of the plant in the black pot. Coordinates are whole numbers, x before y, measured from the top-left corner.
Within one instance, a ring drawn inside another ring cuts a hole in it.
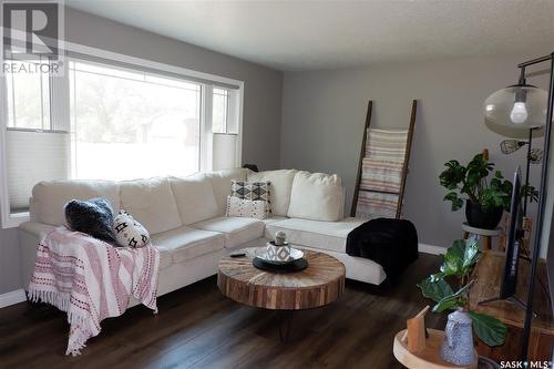
[[[452,203],[452,211],[455,212],[463,206],[460,195],[468,196],[468,199],[491,209],[502,206],[510,211],[510,195],[512,194],[512,182],[505,180],[502,172],[494,171],[494,163],[489,162],[486,152],[476,154],[463,166],[456,160],[451,160],[444,165],[440,176],[440,183],[450,192],[444,196],[444,201]],[[494,171],[492,178],[489,176]],[[531,199],[538,199],[538,192],[533,186],[522,186],[522,196],[527,195]]]

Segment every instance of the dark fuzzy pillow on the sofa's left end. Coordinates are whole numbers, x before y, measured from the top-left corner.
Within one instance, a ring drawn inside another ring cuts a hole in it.
[[[65,221],[72,230],[85,233],[111,244],[115,243],[112,205],[105,198],[70,201],[65,204]]]

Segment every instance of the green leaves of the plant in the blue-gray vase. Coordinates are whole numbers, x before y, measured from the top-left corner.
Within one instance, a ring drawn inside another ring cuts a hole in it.
[[[418,284],[424,297],[437,304],[434,312],[444,312],[462,308],[468,311],[473,329],[484,344],[494,347],[504,344],[507,328],[499,319],[469,309],[469,290],[474,279],[470,280],[471,271],[478,263],[481,252],[474,240],[456,239],[444,254],[440,273],[432,274]],[[456,283],[453,288],[449,281]]]

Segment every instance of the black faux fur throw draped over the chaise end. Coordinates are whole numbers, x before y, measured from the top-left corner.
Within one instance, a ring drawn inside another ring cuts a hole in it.
[[[397,281],[418,258],[418,233],[410,221],[371,219],[348,234],[347,254],[376,262],[389,281]]]

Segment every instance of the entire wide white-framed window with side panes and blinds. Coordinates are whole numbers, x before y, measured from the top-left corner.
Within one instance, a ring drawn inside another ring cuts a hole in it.
[[[75,48],[63,75],[0,76],[3,227],[28,218],[40,181],[185,176],[240,162],[242,82]]]

